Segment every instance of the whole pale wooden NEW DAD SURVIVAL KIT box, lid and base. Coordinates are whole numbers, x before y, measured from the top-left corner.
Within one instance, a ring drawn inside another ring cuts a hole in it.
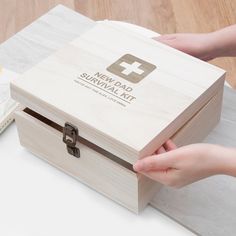
[[[103,22],[11,84],[20,142],[139,212],[161,187],[132,164],[167,139],[200,141],[220,118],[225,72]]]

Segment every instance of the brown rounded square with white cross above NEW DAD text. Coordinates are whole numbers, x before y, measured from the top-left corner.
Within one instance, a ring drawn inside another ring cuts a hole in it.
[[[132,83],[138,83],[149,75],[156,66],[131,54],[125,54],[107,70]]]

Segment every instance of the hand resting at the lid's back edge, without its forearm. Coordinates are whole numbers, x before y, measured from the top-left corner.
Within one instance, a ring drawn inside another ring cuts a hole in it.
[[[154,39],[204,61],[217,56],[218,49],[214,33],[166,34]]]

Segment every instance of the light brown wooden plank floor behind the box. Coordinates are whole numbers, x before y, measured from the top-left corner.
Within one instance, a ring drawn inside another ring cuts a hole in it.
[[[236,24],[235,0],[0,0],[0,42],[57,4],[94,20],[127,21],[161,34],[210,32]],[[236,58],[212,63],[227,70],[227,81],[236,88]]]

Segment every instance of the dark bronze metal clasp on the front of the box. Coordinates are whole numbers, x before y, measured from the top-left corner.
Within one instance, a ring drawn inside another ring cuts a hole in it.
[[[80,150],[76,147],[76,141],[79,136],[79,131],[76,126],[66,122],[63,128],[63,142],[66,144],[69,154],[79,158]]]

